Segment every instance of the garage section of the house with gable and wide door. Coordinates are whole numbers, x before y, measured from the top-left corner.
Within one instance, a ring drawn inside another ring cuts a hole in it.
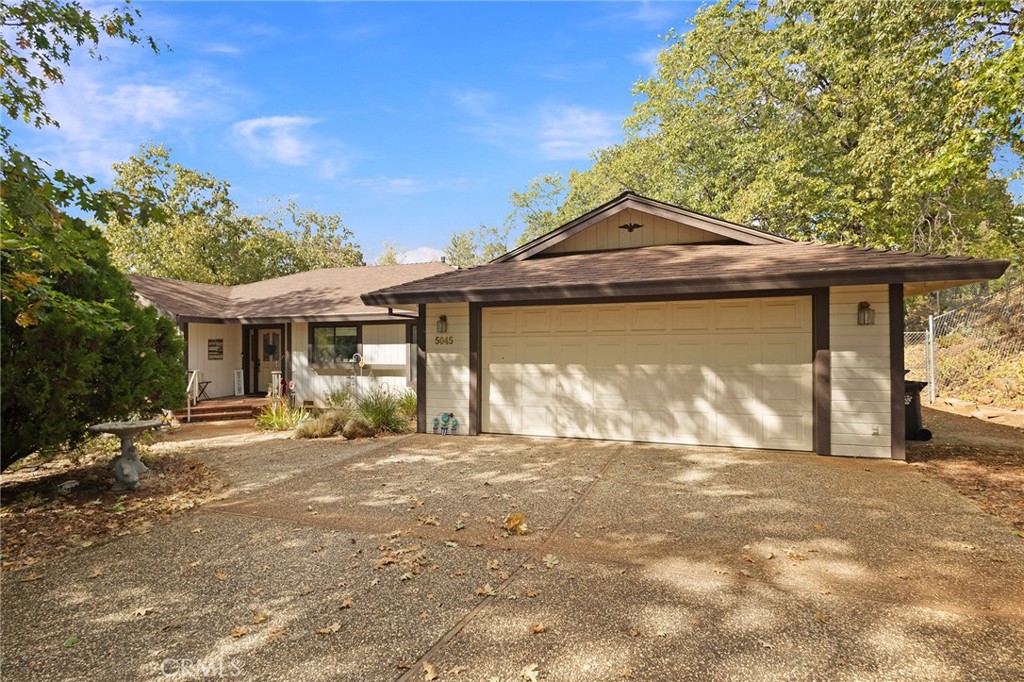
[[[904,457],[903,299],[1006,261],[798,243],[627,193],[416,310],[419,430]]]

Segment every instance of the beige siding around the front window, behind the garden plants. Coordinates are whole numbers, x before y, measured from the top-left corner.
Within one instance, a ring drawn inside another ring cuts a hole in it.
[[[366,335],[375,326],[362,328],[364,341]],[[380,326],[381,328],[399,327],[401,328],[402,347],[404,348],[406,332],[401,325]],[[392,332],[384,330],[371,333],[373,346],[385,346],[386,350],[381,352],[391,352],[390,343],[378,343],[390,337]],[[366,346],[364,346],[366,350]],[[376,349],[374,352],[378,352]],[[381,356],[381,355],[378,355]],[[403,360],[400,360],[403,361]],[[305,323],[292,325],[292,380],[295,382],[295,397],[301,402],[312,402],[316,407],[327,404],[327,395],[333,390],[347,390],[349,393],[359,393],[370,388],[381,385],[388,390],[406,390],[409,388],[407,371],[401,370],[380,370],[373,369],[367,361],[367,368],[359,370],[347,369],[317,369],[309,367],[309,326]]]

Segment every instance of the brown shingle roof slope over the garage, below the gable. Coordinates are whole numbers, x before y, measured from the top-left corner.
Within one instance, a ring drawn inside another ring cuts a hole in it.
[[[492,262],[364,294],[368,305],[673,296],[862,284],[964,282],[1004,260],[823,244],[667,245]]]

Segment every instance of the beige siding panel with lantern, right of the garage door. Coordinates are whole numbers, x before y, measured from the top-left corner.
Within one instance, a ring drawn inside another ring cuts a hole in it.
[[[874,309],[874,325],[857,325],[857,303]],[[829,293],[831,452],[891,457],[889,288],[836,287]]]

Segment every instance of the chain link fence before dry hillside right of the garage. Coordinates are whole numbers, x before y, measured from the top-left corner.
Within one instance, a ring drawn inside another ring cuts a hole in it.
[[[1024,409],[1024,286],[928,318],[907,332],[908,379],[927,381],[925,397]]]

